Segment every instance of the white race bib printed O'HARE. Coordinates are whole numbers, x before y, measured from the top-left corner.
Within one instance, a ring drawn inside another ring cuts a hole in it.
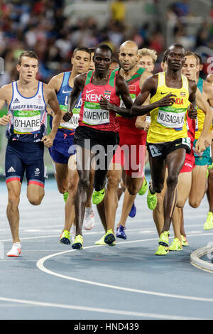
[[[40,131],[39,110],[14,110],[13,117],[15,134],[32,134]]]

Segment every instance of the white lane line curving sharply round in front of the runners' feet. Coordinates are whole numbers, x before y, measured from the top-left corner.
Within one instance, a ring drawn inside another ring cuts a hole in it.
[[[213,235],[213,233],[212,233],[212,235]],[[156,240],[156,238],[155,239],[133,240],[133,241],[128,241],[128,242],[122,242],[122,243],[119,243],[119,244],[146,242],[146,241],[152,241],[152,240]],[[84,249],[89,249],[89,248],[94,248],[94,247],[97,247],[97,246],[92,245],[92,246],[89,246],[89,247],[84,247]],[[102,246],[99,246],[99,247],[102,247]],[[58,276],[62,279],[69,279],[70,281],[77,281],[77,282],[84,283],[84,284],[91,284],[91,285],[94,285],[94,286],[102,286],[104,288],[109,288],[109,289],[116,289],[116,290],[129,291],[129,292],[135,292],[135,293],[143,293],[143,294],[148,294],[148,295],[153,295],[153,296],[161,296],[161,297],[167,297],[167,298],[179,298],[179,299],[187,299],[187,300],[191,300],[191,301],[213,302],[213,298],[202,298],[202,297],[195,297],[195,296],[182,296],[182,295],[177,295],[177,294],[173,294],[173,293],[161,293],[161,292],[155,292],[155,291],[131,289],[131,288],[124,288],[122,286],[114,286],[114,285],[111,285],[111,284],[102,284],[102,283],[99,283],[99,282],[87,281],[85,279],[76,279],[75,277],[58,274],[55,271],[51,271],[51,270],[45,268],[44,263],[48,259],[51,259],[53,257],[57,257],[58,255],[70,253],[70,252],[80,252],[80,251],[77,251],[76,249],[71,249],[71,250],[68,250],[68,251],[65,251],[65,252],[50,254],[47,257],[43,257],[42,259],[38,260],[36,265],[38,266],[38,269],[40,269],[41,271],[44,271],[46,274],[50,274],[50,275],[53,275],[53,276]]]

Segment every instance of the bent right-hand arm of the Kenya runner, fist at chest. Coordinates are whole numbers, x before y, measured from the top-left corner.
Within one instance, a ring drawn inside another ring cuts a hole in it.
[[[126,108],[117,107],[116,105],[111,104],[105,97],[102,97],[100,100],[100,107],[105,110],[116,112],[121,116],[131,118],[132,116],[130,115],[129,111],[133,102],[129,95],[129,87],[126,83],[126,80],[124,80],[124,77],[121,77],[121,75],[116,76],[116,95],[121,97]]]

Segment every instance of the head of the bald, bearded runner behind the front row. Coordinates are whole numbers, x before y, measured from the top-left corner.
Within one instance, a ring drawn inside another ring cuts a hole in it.
[[[130,71],[138,63],[138,49],[133,45],[123,45],[119,52],[119,62],[124,71]]]

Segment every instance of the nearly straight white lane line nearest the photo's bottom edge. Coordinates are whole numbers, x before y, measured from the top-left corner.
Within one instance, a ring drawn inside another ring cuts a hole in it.
[[[8,301],[13,303],[23,303],[34,306],[44,306],[44,307],[54,307],[54,308],[67,308],[71,310],[78,311],[88,311],[88,312],[99,312],[99,313],[110,313],[117,314],[120,316],[133,316],[138,318],[158,318],[158,319],[167,319],[167,320],[207,320],[202,318],[190,318],[185,316],[169,316],[167,314],[155,314],[155,313],[141,313],[141,312],[132,312],[132,311],[121,311],[114,310],[109,308],[94,308],[86,306],[77,306],[77,305],[67,305],[60,303],[45,303],[43,301],[27,301],[25,299],[15,299],[15,298],[3,298],[0,297],[0,301]],[[1,304],[0,304],[1,307]]]

